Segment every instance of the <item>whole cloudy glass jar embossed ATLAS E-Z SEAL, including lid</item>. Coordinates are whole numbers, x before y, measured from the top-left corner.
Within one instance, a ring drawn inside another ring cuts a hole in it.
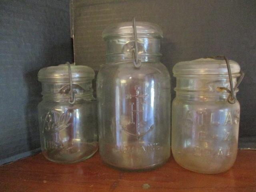
[[[236,85],[240,66],[230,60]],[[220,173],[236,160],[240,104],[228,102],[225,60],[201,58],[177,63],[172,102],[172,153],[180,166],[200,173]],[[236,96],[236,89],[234,96]]]

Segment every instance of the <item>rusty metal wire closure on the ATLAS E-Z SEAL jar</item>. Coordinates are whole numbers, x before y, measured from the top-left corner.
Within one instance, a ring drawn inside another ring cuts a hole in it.
[[[244,72],[242,72],[242,71],[240,72],[240,74],[241,74],[240,78],[238,79],[238,81],[236,83],[236,86],[234,87],[233,79],[232,79],[232,72],[231,72],[231,69],[230,69],[230,64],[229,64],[228,58],[226,58],[225,56],[212,56],[212,57],[209,57],[209,58],[223,58],[226,61],[227,68],[228,68],[228,77],[229,77],[229,82],[230,82],[230,90],[226,87],[218,87],[218,88],[226,90],[226,92],[229,93],[228,102],[230,104],[236,103],[235,90],[238,88],[238,86],[242,82],[242,80],[244,78]]]

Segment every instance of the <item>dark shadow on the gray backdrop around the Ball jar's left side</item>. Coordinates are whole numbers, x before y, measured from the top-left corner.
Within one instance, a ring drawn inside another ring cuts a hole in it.
[[[72,39],[70,39],[72,42]],[[42,58],[45,62],[38,61],[37,69],[28,71],[24,77],[28,88],[28,98],[26,104],[26,127],[27,127],[27,143],[32,154],[38,152],[40,148],[39,124],[38,124],[38,104],[42,101],[42,84],[38,81],[38,72],[41,68],[48,66],[56,66],[65,64],[66,62],[74,62],[72,43],[60,44],[48,49]],[[30,63],[28,66],[33,66],[35,63]],[[35,68],[35,67],[33,67]]]

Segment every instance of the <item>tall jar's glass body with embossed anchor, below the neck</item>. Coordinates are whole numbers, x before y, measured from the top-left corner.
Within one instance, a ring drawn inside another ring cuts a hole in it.
[[[100,156],[143,170],[170,156],[170,76],[158,61],[109,63],[97,76]]]

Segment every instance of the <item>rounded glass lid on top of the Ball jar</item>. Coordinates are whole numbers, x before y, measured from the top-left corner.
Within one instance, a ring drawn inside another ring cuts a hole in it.
[[[94,70],[88,66],[70,64],[72,79],[73,78],[89,78],[93,79],[95,76]],[[50,66],[42,68],[38,72],[38,80],[44,79],[68,79],[68,65],[60,64],[58,66]]]

